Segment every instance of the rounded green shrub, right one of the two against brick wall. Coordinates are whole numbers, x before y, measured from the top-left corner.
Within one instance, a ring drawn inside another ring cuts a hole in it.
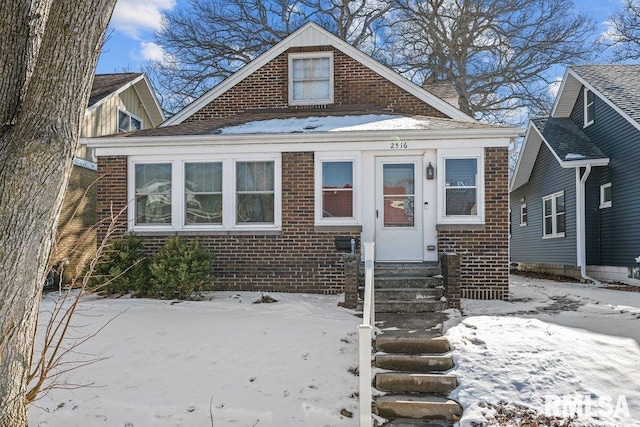
[[[149,265],[156,297],[188,299],[202,292],[211,282],[213,255],[197,240],[187,243],[180,236],[170,237]]]

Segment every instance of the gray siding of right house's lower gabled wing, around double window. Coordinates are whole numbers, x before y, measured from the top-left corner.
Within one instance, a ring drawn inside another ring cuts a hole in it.
[[[542,198],[564,191],[565,237],[542,238]],[[520,226],[520,205],[527,204],[528,221]],[[511,193],[511,262],[576,265],[575,170],[562,169],[542,143],[529,182]]]

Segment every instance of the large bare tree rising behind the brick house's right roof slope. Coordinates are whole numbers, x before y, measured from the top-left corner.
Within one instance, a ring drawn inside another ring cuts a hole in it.
[[[571,0],[396,1],[394,67],[426,83],[452,81],[462,111],[485,120],[545,113],[550,68],[592,58],[594,22]]]

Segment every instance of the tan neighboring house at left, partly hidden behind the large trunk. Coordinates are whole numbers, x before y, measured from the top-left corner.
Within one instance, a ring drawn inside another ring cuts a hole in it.
[[[136,129],[149,129],[164,121],[148,79],[142,73],[98,74],[93,79],[80,137],[94,138]],[[65,281],[75,276],[96,252],[94,182],[97,164],[86,143],[80,144],[58,223],[52,260],[66,264]]]

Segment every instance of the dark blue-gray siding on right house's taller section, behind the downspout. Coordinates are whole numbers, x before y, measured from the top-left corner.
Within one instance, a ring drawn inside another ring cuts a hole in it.
[[[611,159],[594,174],[587,191],[587,261],[596,265],[637,267],[640,256],[640,131],[601,99],[595,98],[595,121],[584,132]],[[583,124],[583,93],[571,118]],[[611,182],[612,206],[599,208],[600,185]],[[596,194],[593,194],[593,193]],[[597,200],[594,203],[593,200]],[[591,245],[597,245],[597,249]],[[595,254],[598,254],[596,256]]]

